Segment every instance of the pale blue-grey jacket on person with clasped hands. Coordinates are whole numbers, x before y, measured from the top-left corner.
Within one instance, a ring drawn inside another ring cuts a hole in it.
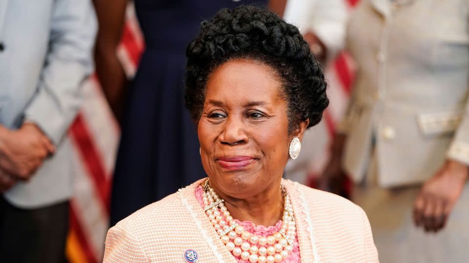
[[[28,183],[5,193],[17,207],[42,207],[72,193],[66,131],[81,105],[80,86],[93,71],[97,30],[90,0],[0,0],[0,124],[37,124],[56,145]]]

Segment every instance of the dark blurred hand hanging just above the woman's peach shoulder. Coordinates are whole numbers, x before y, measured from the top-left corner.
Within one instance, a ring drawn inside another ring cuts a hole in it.
[[[317,186],[320,190],[331,193],[343,194],[343,186],[347,175],[342,169],[342,152],[345,143],[345,135],[337,134],[331,146],[331,158],[322,172]]]

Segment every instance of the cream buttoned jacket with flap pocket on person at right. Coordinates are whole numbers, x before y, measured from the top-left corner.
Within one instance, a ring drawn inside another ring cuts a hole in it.
[[[375,139],[378,182],[421,183],[469,164],[469,1],[362,0],[347,29],[358,67],[345,169],[361,181]]]

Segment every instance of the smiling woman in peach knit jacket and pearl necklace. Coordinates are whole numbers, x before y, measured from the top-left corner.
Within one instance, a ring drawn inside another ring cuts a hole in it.
[[[112,227],[104,261],[377,262],[360,207],[282,180],[329,103],[298,29],[253,6],[223,9],[186,55],[186,107],[208,179]]]

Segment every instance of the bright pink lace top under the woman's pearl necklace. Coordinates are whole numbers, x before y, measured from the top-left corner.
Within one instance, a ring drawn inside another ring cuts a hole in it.
[[[201,207],[204,207],[204,201],[203,201],[203,189],[202,186],[199,186],[195,188],[195,198],[200,203]],[[280,228],[282,227],[282,221],[279,220],[277,224],[271,225],[271,226],[263,226],[263,225],[255,225],[251,221],[243,221],[240,222],[239,220],[235,219],[235,222],[238,223],[239,225],[242,225],[245,230],[247,230],[251,234],[255,234],[257,236],[263,236],[267,237],[270,235],[275,234],[276,232],[280,231]],[[233,257],[235,257],[233,255]],[[238,261],[238,263],[250,263],[249,261],[242,260],[240,257],[235,257],[235,259]],[[288,258],[284,259],[282,261],[283,263],[300,263],[300,257],[299,257],[299,244],[298,244],[298,238],[295,238],[295,242],[293,244],[293,251],[290,253]]]

